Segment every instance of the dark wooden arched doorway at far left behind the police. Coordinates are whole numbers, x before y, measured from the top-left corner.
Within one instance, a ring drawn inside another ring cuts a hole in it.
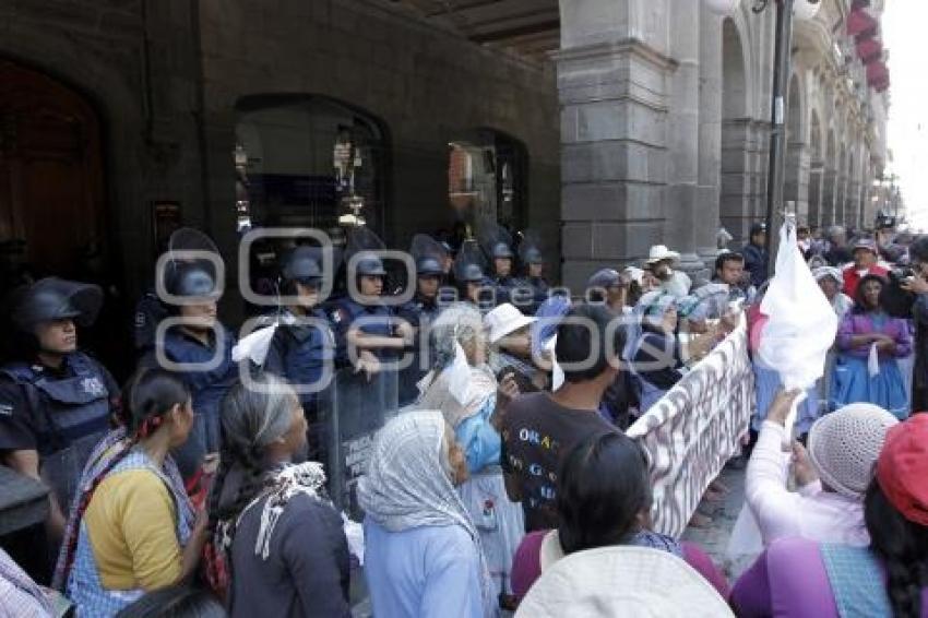
[[[23,271],[108,280],[107,237],[94,108],[48,75],[0,60],[0,285],[9,289]]]

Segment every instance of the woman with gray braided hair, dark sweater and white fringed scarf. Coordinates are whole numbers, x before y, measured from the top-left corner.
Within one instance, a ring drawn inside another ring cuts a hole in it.
[[[293,387],[264,373],[223,402],[207,579],[236,616],[350,616],[348,546]]]

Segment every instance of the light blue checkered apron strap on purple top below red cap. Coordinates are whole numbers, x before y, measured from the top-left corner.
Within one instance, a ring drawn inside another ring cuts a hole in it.
[[[824,544],[821,554],[841,618],[893,615],[885,575],[868,548]]]

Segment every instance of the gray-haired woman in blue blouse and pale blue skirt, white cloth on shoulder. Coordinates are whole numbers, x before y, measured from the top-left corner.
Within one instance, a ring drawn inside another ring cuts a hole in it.
[[[443,310],[431,324],[429,337],[435,365],[424,380],[418,407],[440,409],[464,449],[469,478],[459,491],[480,534],[495,592],[509,595],[510,566],[525,522],[522,507],[505,494],[499,420],[519,389],[511,376],[497,388],[486,365],[480,313],[472,305]]]

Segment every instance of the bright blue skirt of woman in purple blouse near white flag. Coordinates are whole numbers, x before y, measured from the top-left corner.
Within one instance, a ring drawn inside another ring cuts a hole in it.
[[[832,373],[831,393],[835,408],[852,403],[871,403],[888,409],[900,420],[908,418],[905,380],[895,358],[881,359],[880,372],[871,378],[867,359],[838,356]]]

